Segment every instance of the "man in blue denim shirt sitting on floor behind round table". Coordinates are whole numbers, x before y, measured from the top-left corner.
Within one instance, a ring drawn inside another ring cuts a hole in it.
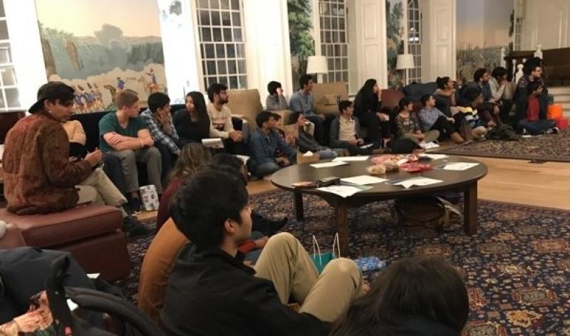
[[[276,121],[274,114],[263,111],[255,118],[257,130],[252,133],[249,139],[249,172],[254,176],[264,177],[273,174],[281,167],[294,164],[297,159],[297,152],[286,144],[283,137],[275,130]],[[276,157],[279,150],[284,156]]]

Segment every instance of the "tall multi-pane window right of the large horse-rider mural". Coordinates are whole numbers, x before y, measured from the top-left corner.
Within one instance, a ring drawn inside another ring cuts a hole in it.
[[[247,88],[243,9],[239,0],[196,0],[204,89]]]

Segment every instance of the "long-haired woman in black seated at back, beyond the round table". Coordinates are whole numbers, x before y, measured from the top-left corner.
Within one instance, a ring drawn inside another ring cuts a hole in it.
[[[382,111],[378,100],[380,87],[375,79],[368,79],[354,98],[354,115],[358,117],[361,126],[366,127],[368,140],[381,143],[390,141],[390,116]]]

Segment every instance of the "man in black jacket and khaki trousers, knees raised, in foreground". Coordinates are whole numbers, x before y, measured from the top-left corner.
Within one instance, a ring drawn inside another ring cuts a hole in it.
[[[366,290],[354,261],[336,258],[321,275],[289,233],[269,238],[251,268],[238,246],[252,233],[241,173],[197,172],[170,201],[185,246],[168,282],[160,320],[167,335],[326,335]],[[334,295],[331,295],[333,293]],[[301,305],[289,308],[289,298]]]

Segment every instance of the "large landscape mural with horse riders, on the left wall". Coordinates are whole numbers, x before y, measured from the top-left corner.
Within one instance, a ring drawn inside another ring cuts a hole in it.
[[[133,13],[136,8],[136,13]],[[155,0],[36,0],[48,80],[76,89],[76,111],[113,108],[124,89],[167,92]]]

